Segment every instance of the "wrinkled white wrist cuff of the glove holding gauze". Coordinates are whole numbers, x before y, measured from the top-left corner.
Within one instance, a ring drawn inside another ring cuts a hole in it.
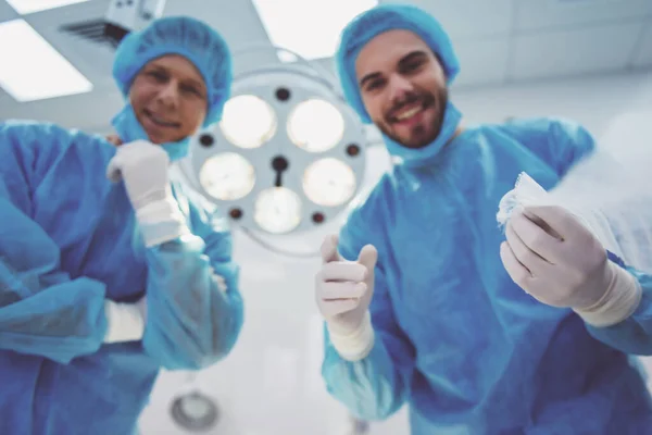
[[[592,307],[575,310],[585,322],[595,327],[623,322],[634,314],[641,302],[642,289],[636,277],[611,261],[609,268],[612,276],[604,296]]]

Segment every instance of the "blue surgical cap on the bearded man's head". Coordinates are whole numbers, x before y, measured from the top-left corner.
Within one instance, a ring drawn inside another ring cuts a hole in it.
[[[372,120],[360,96],[355,61],[372,38],[394,29],[415,33],[437,53],[449,85],[460,72],[460,63],[449,36],[441,24],[426,11],[406,4],[381,4],[361,13],[342,30],[335,58],[344,98],[365,123],[372,123]]]

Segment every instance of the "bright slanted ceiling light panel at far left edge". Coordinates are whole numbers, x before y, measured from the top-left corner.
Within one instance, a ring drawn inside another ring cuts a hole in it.
[[[24,20],[0,23],[0,86],[21,102],[92,89],[92,84]]]

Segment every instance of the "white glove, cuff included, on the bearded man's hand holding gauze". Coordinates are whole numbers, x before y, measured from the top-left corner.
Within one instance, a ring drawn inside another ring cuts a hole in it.
[[[622,322],[636,311],[641,287],[607,260],[600,241],[556,206],[515,211],[500,256],[512,279],[537,300],[569,307],[594,326]]]

